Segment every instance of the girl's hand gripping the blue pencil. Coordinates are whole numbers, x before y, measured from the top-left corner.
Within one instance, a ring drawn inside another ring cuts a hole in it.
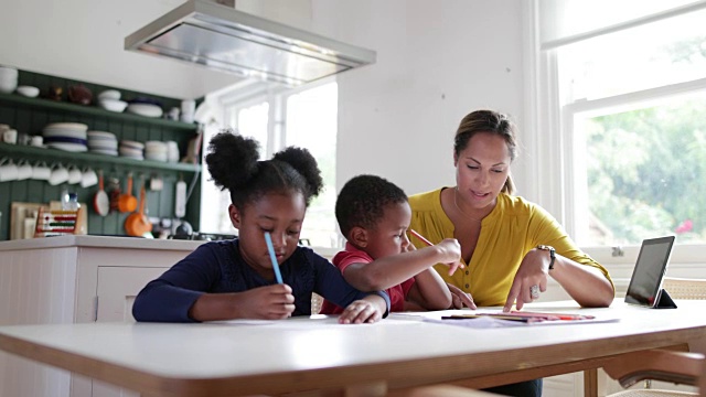
[[[295,311],[295,296],[287,285],[254,288],[239,296],[237,310],[240,319],[287,319]]]

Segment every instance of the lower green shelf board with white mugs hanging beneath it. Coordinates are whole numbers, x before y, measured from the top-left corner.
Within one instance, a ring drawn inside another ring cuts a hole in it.
[[[122,157],[113,157],[106,154],[97,154],[89,152],[69,152],[65,150],[52,149],[52,148],[36,148],[22,144],[10,144],[0,142],[0,153],[3,155],[12,154],[13,158],[22,158],[22,155],[31,157],[32,159],[43,159],[50,161],[62,161],[71,163],[72,161],[82,161],[85,163],[94,164],[124,164],[139,168],[157,169],[157,170],[171,170],[182,172],[196,172],[201,171],[201,164],[191,163],[170,163],[151,160],[135,160]],[[50,164],[51,165],[51,164]]]

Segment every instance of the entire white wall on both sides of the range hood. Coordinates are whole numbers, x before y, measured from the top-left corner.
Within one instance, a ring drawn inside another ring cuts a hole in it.
[[[6,1],[0,64],[178,98],[237,77],[126,52],[126,35],[180,0]],[[454,183],[460,119],[525,111],[522,0],[238,0],[237,8],[377,52],[339,75],[339,187],[376,173],[408,194]],[[513,173],[523,184],[523,169]],[[521,189],[522,193],[522,189]]]

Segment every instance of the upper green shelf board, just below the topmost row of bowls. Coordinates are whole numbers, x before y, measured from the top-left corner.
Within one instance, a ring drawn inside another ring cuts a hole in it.
[[[196,129],[199,128],[199,126],[196,126],[195,124],[188,124],[188,122],[168,120],[168,119],[156,118],[156,117],[146,117],[146,116],[132,115],[128,112],[109,111],[109,110],[105,110],[103,108],[99,108],[96,106],[89,106],[89,105],[84,106],[84,105],[77,105],[77,104],[72,104],[67,101],[51,100],[51,99],[44,99],[44,98],[29,98],[29,97],[21,96],[19,94],[0,93],[0,103],[15,104],[15,105],[31,107],[31,108],[65,110],[65,111],[71,111],[75,114],[81,114],[81,115],[106,117],[114,120],[137,121],[145,125],[162,126],[162,127],[169,127],[169,128],[180,129],[180,130],[191,131],[191,132],[196,131]]]

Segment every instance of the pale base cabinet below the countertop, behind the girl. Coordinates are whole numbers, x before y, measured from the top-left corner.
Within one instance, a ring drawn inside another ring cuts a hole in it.
[[[204,242],[61,236],[0,243],[0,325],[133,321],[150,280]],[[0,353],[0,396],[136,396]]]

